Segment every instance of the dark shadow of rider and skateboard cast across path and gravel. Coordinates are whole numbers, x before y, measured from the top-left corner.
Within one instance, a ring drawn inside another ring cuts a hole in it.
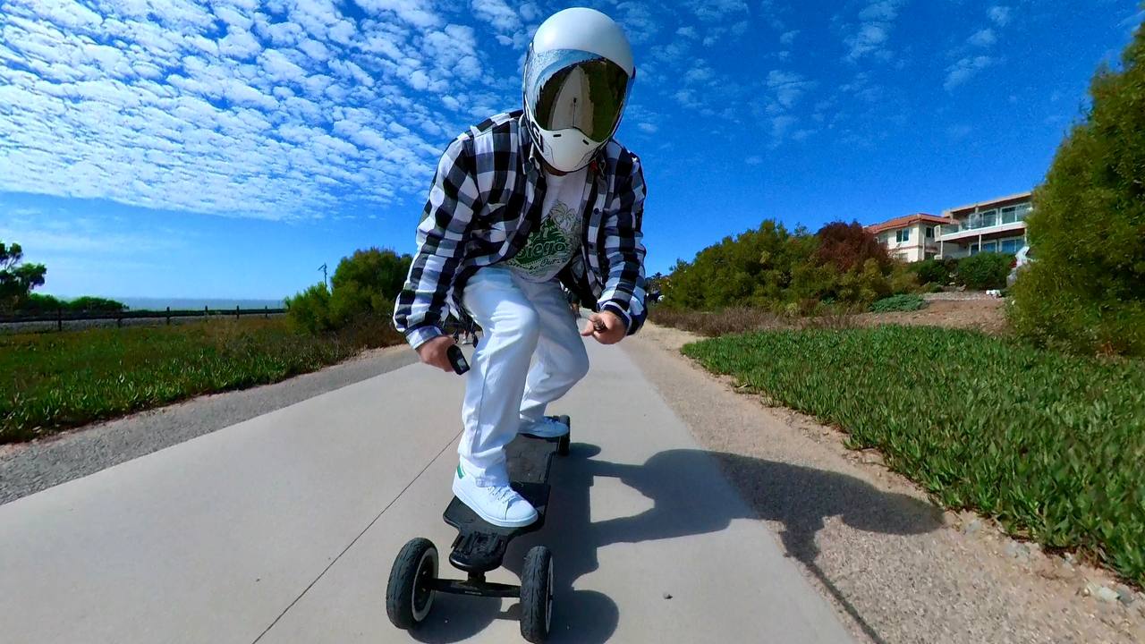
[[[930,503],[885,493],[837,472],[698,449],[661,451],[637,465],[594,458],[599,453],[597,446],[574,443],[569,457],[554,463],[552,511],[544,529],[513,541],[505,556],[505,567],[520,574],[529,548],[546,544],[552,549],[555,574],[552,642],[607,642],[616,630],[621,618],[616,603],[601,592],[575,588],[581,576],[598,568],[600,548],[718,532],[734,519],[781,523],[780,537],[787,553],[819,576],[868,635],[879,642],[882,638],[816,566],[815,533],[828,517],[839,517],[851,527],[883,534],[919,534],[941,526],[941,515]],[[711,500],[697,496],[703,494],[703,489],[697,490],[697,481],[718,482],[711,476],[713,469],[722,470],[735,484],[742,492],[742,502],[720,490],[714,490]],[[591,490],[597,478],[617,479],[640,492],[653,506],[630,517],[591,523]],[[439,596],[439,600],[445,597]],[[484,602],[481,606],[474,602],[479,600],[449,598],[450,623],[439,621],[439,608],[447,606],[435,606],[434,618],[425,626],[437,626],[431,627],[432,634],[425,629],[414,636],[424,642],[456,642],[480,631],[493,619],[516,619],[519,614],[515,604],[502,611],[497,600],[480,600]]]

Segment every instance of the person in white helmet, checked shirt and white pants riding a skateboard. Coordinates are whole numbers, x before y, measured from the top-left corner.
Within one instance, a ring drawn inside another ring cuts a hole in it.
[[[568,433],[545,408],[587,374],[582,336],[615,344],[645,320],[643,172],[613,139],[634,78],[611,18],[584,8],[552,15],[529,46],[523,110],[447,147],[418,226],[394,324],[421,362],[447,371],[450,311],[481,327],[452,487],[497,526],[537,519],[510,487],[505,446],[519,432]],[[593,311],[583,330],[562,284]]]

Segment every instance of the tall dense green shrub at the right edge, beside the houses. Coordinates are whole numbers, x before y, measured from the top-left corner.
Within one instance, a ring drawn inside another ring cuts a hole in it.
[[[1027,218],[1036,260],[1013,288],[1021,336],[1076,352],[1145,355],[1145,25],[1121,71],[1058,149]]]

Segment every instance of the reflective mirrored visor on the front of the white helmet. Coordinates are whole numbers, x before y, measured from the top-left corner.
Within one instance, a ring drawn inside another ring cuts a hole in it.
[[[524,89],[538,126],[548,131],[575,127],[602,142],[621,121],[629,80],[629,74],[608,58],[554,49],[530,57]]]

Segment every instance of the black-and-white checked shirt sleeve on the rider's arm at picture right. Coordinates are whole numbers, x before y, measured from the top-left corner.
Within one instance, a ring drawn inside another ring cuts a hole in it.
[[[627,166],[627,167],[625,167]],[[598,309],[618,315],[629,335],[643,324],[645,274],[643,218],[645,182],[640,158],[629,152],[617,167],[616,190],[605,213],[605,257],[608,276],[598,298]]]

